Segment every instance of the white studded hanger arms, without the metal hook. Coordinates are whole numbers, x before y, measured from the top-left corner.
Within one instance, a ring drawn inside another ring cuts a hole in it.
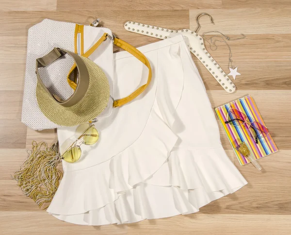
[[[190,52],[192,52],[194,56],[199,59],[199,61],[205,66],[205,68],[215,78],[219,85],[228,93],[235,91],[236,87],[233,82],[205,48],[203,38],[194,31],[191,31],[190,29],[165,29],[132,21],[126,22],[124,24],[124,28],[130,32],[135,32],[159,39],[167,39],[178,34],[182,34],[185,37]]]

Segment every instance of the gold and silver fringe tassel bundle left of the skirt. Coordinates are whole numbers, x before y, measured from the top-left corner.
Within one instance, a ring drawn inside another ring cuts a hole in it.
[[[56,193],[63,173],[56,168],[60,162],[58,141],[48,147],[45,142],[32,141],[32,150],[27,150],[28,158],[22,163],[13,179],[21,191],[39,206],[46,209]]]

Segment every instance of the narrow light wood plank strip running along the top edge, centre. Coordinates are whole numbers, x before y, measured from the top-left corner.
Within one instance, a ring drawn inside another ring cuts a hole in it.
[[[99,9],[112,9],[112,10],[181,10],[181,9],[207,9],[207,8],[220,8],[222,5],[222,0],[83,0],[74,1],[71,4],[70,0],[58,0],[57,10],[67,11],[67,10],[91,10],[95,6]],[[130,20],[130,19],[129,19]],[[177,19],[178,20],[178,19]]]

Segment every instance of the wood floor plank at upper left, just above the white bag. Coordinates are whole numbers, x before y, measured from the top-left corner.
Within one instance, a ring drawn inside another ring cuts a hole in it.
[[[179,20],[173,21],[173,15]],[[15,18],[19,20],[14,21],[13,19]],[[5,31],[0,31],[0,36],[27,36],[28,29],[45,18],[75,22],[84,25],[90,25],[96,18],[100,18],[100,24],[102,26],[110,28],[114,33],[118,34],[118,36],[120,36],[119,33],[122,33],[122,35],[127,35],[128,38],[134,35],[129,34],[123,28],[123,24],[129,20],[139,20],[148,24],[160,24],[164,25],[164,27],[173,27],[177,29],[183,27],[189,28],[189,10],[122,11],[107,8],[96,11],[51,11],[49,14],[45,11],[21,11],[3,12],[0,15],[1,23],[7,28]],[[149,37],[143,38],[146,38],[144,41],[150,39]]]

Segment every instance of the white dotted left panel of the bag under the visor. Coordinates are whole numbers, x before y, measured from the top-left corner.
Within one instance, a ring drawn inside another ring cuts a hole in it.
[[[74,52],[75,24],[45,19],[28,30],[27,62],[21,121],[34,130],[60,127],[50,121],[39,109],[35,90],[37,78],[35,60],[49,53],[54,47]],[[69,55],[57,59],[45,68],[39,68],[40,77],[53,94],[66,100],[73,94],[66,81],[74,60]]]

